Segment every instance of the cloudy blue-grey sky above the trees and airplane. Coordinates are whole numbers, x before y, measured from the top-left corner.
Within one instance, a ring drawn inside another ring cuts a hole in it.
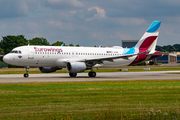
[[[117,46],[159,20],[158,45],[180,44],[179,0],[0,0],[0,8],[1,36]]]

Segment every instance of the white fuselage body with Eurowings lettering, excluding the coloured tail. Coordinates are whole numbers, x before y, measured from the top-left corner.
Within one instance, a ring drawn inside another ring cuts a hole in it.
[[[21,46],[14,48],[3,59],[6,63],[17,66],[59,67],[66,68],[69,61],[79,61],[90,58],[104,58],[124,55],[125,49],[120,47],[65,47],[65,46]],[[121,67],[129,65],[136,56],[129,59],[114,59],[103,61],[94,67]]]

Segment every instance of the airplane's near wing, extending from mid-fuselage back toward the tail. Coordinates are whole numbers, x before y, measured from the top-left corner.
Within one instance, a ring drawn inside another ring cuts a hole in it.
[[[90,62],[90,61],[111,61],[113,62],[113,59],[128,59],[129,57],[135,56],[135,55],[140,55],[140,54],[146,54],[149,51],[145,51],[142,53],[137,53],[137,54],[128,54],[128,55],[121,55],[121,56],[108,56],[108,57],[99,57],[99,58],[88,58],[88,59],[83,59],[83,60],[78,60],[79,62]]]

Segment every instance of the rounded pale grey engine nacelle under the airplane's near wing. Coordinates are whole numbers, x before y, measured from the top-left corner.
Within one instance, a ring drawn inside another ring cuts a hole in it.
[[[86,70],[86,64],[84,62],[68,62],[66,69],[70,73],[79,73]]]

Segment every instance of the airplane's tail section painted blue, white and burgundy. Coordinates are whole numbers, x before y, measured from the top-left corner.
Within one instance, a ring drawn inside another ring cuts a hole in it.
[[[141,37],[141,39],[138,41],[138,43],[134,47],[130,48],[128,52],[125,53],[125,54],[133,54],[133,53],[143,53],[146,51],[149,52],[146,54],[137,55],[135,60],[130,65],[143,62],[147,60],[147,56],[150,55],[151,58],[162,56],[162,54],[160,54],[158,51],[155,51],[160,25],[161,25],[161,21],[154,21],[147,29],[147,31],[144,33],[144,35]]]

